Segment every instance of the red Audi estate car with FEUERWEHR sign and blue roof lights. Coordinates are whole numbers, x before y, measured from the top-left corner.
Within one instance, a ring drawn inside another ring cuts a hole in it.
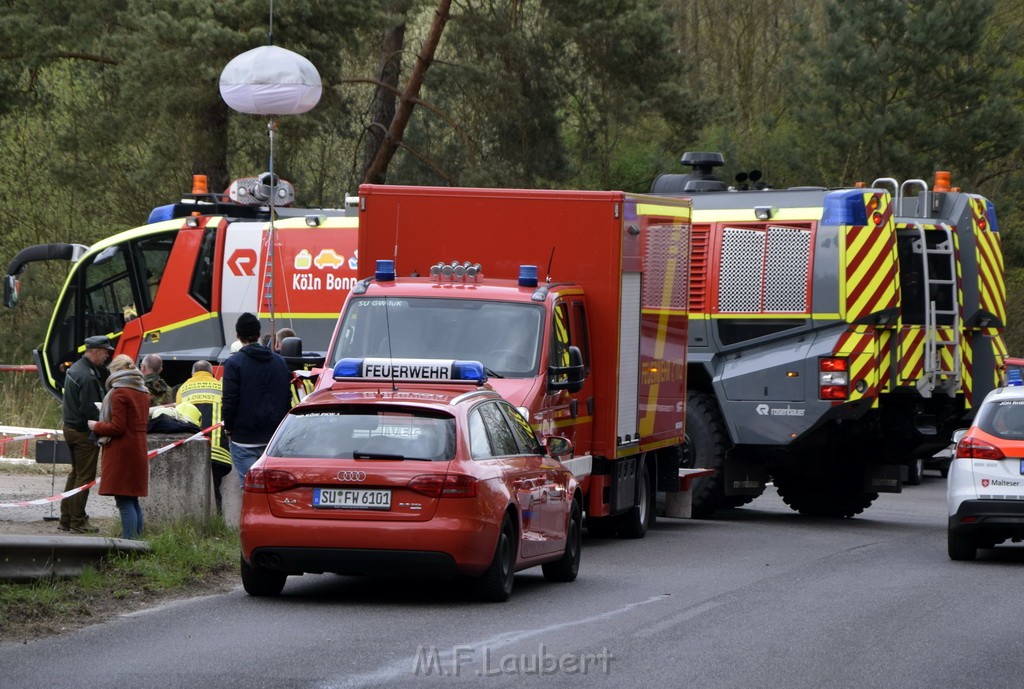
[[[471,577],[504,601],[516,571],[571,582],[582,494],[473,361],[343,359],[331,389],[285,418],[249,471],[242,583],[276,596],[289,575]]]

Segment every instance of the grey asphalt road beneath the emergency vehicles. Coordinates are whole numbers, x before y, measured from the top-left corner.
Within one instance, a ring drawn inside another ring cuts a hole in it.
[[[713,521],[584,544],[581,576],[516,576],[505,604],[457,586],[291,578],[68,636],[0,646],[17,687],[999,687],[1024,670],[1024,548],[954,563],[945,481],[860,517],[774,490]]]

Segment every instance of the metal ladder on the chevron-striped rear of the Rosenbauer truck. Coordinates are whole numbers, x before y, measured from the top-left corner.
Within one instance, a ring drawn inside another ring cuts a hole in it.
[[[923,397],[931,397],[932,392],[940,390],[954,397],[961,387],[963,372],[953,232],[946,224],[928,230],[921,225],[908,225],[907,229],[915,229],[918,232],[918,238],[913,241],[913,253],[921,255],[924,266],[925,354],[922,376],[916,382],[918,392]],[[934,247],[929,247],[926,232],[938,232],[941,239]],[[929,261],[932,256],[940,257],[940,261],[948,261],[949,277],[932,274]],[[939,303],[948,304],[949,307],[939,308]],[[939,325],[939,318],[943,316],[948,325]]]

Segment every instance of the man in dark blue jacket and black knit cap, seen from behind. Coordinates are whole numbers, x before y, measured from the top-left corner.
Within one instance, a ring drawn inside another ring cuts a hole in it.
[[[234,333],[243,347],[224,361],[221,412],[231,464],[245,485],[249,468],[292,407],[292,372],[281,354],[259,344],[260,324],[255,315],[240,315]]]

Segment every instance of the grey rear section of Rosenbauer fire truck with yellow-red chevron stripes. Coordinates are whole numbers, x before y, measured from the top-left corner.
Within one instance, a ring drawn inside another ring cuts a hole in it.
[[[947,172],[770,189],[760,175],[728,187],[720,154],[682,162],[693,171],[651,192],[693,203],[687,462],[719,469],[694,486],[694,515],[769,479],[795,510],[834,517],[920,482],[1000,383],[991,202]]]

